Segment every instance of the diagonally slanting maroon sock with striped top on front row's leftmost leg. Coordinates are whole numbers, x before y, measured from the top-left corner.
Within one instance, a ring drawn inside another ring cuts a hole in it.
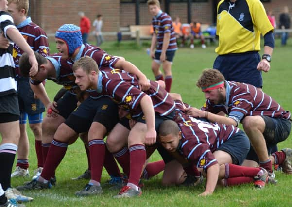
[[[68,143],[52,140],[51,146],[48,151],[48,155],[44,165],[44,169],[41,173],[41,177],[45,180],[50,180],[54,176],[54,171],[64,158],[67,151]]]

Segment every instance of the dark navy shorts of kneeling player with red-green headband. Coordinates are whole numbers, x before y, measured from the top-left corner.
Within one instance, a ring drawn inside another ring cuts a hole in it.
[[[281,118],[275,119],[269,116],[262,116],[262,118],[266,124],[263,135],[266,140],[268,154],[270,155],[277,143],[288,138],[291,131],[291,121]],[[252,147],[250,148],[246,159],[259,163],[258,156]]]

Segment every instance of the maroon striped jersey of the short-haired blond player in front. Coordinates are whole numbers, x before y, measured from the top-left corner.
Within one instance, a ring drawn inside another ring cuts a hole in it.
[[[142,114],[140,101],[146,94],[152,99],[155,113],[161,116],[170,114],[174,110],[174,102],[169,94],[158,83],[150,81],[150,89],[142,92],[138,80],[123,70],[115,72],[101,72],[99,74],[98,92],[111,97],[123,108],[130,110],[133,118]]]

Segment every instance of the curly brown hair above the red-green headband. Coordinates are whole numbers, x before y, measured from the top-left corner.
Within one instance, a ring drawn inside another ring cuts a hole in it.
[[[202,74],[199,77],[197,86],[199,88],[209,87],[221,81],[224,81],[225,78],[219,70],[216,69],[205,69],[202,71]]]

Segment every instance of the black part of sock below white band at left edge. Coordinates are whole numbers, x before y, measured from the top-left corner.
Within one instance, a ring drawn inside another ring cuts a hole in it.
[[[4,191],[10,187],[11,171],[13,167],[15,154],[9,152],[0,153],[0,183]]]

